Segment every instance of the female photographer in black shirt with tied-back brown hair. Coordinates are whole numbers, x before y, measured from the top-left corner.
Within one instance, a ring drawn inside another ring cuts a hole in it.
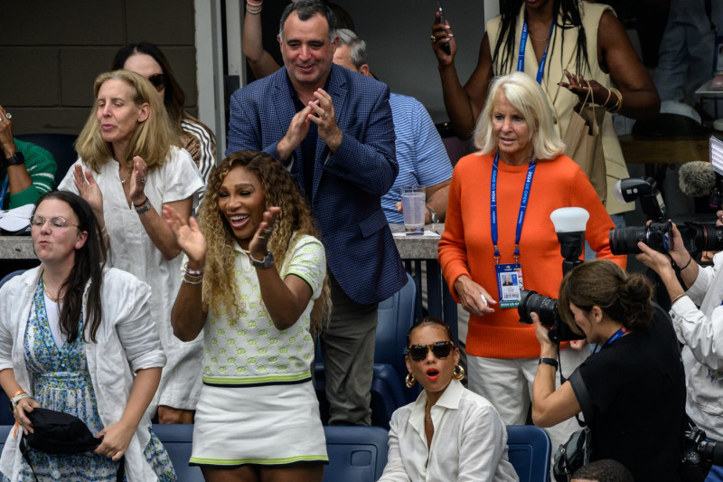
[[[652,297],[648,279],[607,260],[568,272],[559,317],[600,348],[555,390],[558,345],[531,315],[540,342],[532,421],[549,427],[582,412],[592,434],[591,461],[613,458],[636,482],[678,481],[685,379],[675,333]]]

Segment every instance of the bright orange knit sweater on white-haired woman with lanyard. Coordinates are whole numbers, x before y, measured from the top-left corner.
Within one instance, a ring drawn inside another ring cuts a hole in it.
[[[452,175],[438,259],[457,302],[455,280],[463,274],[480,284],[495,299],[498,296],[490,231],[492,165],[493,156],[471,154],[459,160]],[[499,163],[497,230],[502,254],[500,263],[514,262],[515,230],[527,168],[528,165]],[[587,175],[568,156],[559,156],[551,161],[538,162],[532,179],[520,240],[525,289],[558,298],[562,256],[549,214],[560,207],[570,206],[582,207],[590,213],[586,239],[597,251],[597,258],[614,260],[625,268],[625,257],[613,256],[610,252],[608,232],[614,224]],[[534,326],[519,322],[517,308],[493,307],[495,312],[491,315],[470,316],[467,352],[488,358],[540,356]]]

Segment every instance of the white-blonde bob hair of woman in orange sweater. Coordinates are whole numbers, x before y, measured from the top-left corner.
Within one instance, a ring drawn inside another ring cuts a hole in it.
[[[494,103],[503,95],[512,107],[519,110],[530,128],[532,155],[542,161],[561,155],[565,144],[555,131],[552,109],[545,92],[534,79],[524,72],[513,72],[493,80],[484,110],[474,128],[474,146],[478,156],[497,152],[497,137],[493,132]]]

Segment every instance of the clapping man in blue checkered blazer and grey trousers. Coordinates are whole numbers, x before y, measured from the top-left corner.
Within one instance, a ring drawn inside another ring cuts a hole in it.
[[[286,7],[285,67],[233,94],[226,154],[275,156],[311,203],[331,274],[321,335],[329,423],[369,425],[377,304],[407,282],[380,205],[399,166],[389,88],[333,65],[334,24],[320,0]]]

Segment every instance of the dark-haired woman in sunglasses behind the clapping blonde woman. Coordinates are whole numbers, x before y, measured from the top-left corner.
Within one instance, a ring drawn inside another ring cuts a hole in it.
[[[211,129],[183,109],[186,94],[175,80],[164,52],[154,43],[129,43],[116,52],[112,69],[134,71],[153,84],[176,133],[181,137],[181,146],[191,154],[203,183],[207,183],[211,169],[216,165],[216,138]]]

